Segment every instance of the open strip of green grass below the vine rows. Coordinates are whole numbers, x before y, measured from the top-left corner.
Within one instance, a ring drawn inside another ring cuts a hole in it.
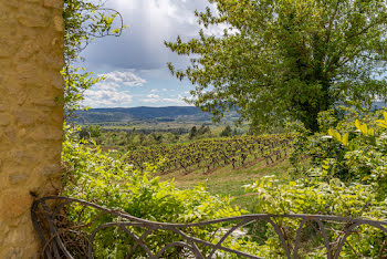
[[[205,183],[210,193],[230,196],[232,205],[253,211],[252,201],[255,199],[255,196],[245,194],[243,186],[254,183],[262,176],[283,175],[289,166],[287,159],[269,166],[262,160],[253,166],[234,170],[229,166],[209,174],[202,170],[190,174],[170,173],[160,176],[160,178],[164,180],[175,178],[176,186],[180,188],[190,188],[199,183]]]

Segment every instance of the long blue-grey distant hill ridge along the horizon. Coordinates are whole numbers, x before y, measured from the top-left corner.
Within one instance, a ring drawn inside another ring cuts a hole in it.
[[[237,113],[231,112],[228,117],[232,120],[238,116]],[[77,111],[76,117],[71,121],[79,124],[94,124],[133,121],[174,122],[179,120],[209,121],[211,114],[194,106],[91,108],[88,111]]]

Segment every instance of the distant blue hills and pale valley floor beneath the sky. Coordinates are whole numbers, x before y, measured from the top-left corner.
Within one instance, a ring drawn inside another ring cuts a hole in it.
[[[195,127],[209,126],[215,132],[220,132],[227,125],[234,125],[239,115],[237,112],[228,112],[224,117],[215,123],[209,113],[194,106],[166,106],[166,107],[118,107],[118,108],[91,108],[76,111],[74,116],[67,120],[80,126],[100,125],[104,131],[136,131],[149,134],[178,133],[187,134]],[[240,132],[247,132],[247,124],[239,127]]]

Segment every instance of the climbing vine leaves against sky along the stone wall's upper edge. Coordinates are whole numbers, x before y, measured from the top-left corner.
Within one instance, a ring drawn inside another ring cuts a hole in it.
[[[115,28],[114,22],[119,18],[121,24]],[[64,77],[64,108],[70,116],[81,108],[83,93],[92,85],[103,80],[94,77],[92,72],[84,68],[74,66],[81,59],[80,53],[95,38],[106,35],[118,37],[124,29],[121,14],[112,9],[104,8],[104,1],[65,0],[63,9],[64,20],[64,61],[62,70]]]

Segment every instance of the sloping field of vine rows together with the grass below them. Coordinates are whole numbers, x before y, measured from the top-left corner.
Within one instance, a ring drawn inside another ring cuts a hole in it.
[[[211,194],[231,197],[232,205],[253,211],[253,196],[243,186],[262,176],[283,176],[290,163],[291,135],[272,134],[192,141],[149,146],[129,152],[125,160],[137,169],[156,165],[161,180],[174,179],[178,188],[203,184]],[[279,177],[281,178],[281,177]]]

